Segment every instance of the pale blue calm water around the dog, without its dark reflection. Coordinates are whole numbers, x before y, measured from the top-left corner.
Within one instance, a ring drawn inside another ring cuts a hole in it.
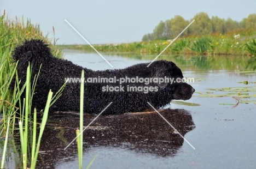
[[[104,55],[104,57],[113,68],[96,54],[66,51],[65,56],[69,61],[93,70],[121,69],[137,63],[151,62],[155,56]],[[197,92],[206,92],[208,91],[206,88],[224,87],[254,86],[255,89],[255,83],[248,85],[238,83],[256,82],[255,72],[246,72],[255,70],[255,60],[247,57],[160,56],[159,59],[175,62],[183,71],[184,77],[194,77],[195,83],[190,85]],[[251,94],[255,95],[256,91]],[[252,102],[234,107],[234,105],[225,105],[236,104],[236,100],[231,96],[217,98],[193,96],[187,102],[200,106],[171,104],[165,107],[184,109],[190,113],[195,128],[187,132],[184,137],[195,147],[195,150],[187,142],[183,142],[175,153],[165,156],[150,151],[127,150],[120,146],[96,146],[86,150],[84,164],[89,164],[97,154],[91,168],[255,168],[256,99],[254,96],[242,100]],[[167,124],[164,125],[170,128]],[[157,125],[155,127],[157,128]],[[157,140],[155,142],[157,143]],[[57,168],[72,167],[77,164],[77,158],[74,158],[74,161],[58,162]]]

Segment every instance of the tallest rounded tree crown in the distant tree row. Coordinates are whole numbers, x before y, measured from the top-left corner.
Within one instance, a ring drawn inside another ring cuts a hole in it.
[[[189,31],[191,31],[192,34],[207,35],[212,33],[212,23],[208,14],[196,14],[191,20],[195,20],[195,22],[189,27]]]

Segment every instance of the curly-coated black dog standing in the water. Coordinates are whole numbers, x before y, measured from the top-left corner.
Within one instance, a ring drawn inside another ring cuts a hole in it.
[[[32,108],[36,107],[37,110],[45,107],[50,89],[56,93],[67,78],[70,78],[62,95],[51,109],[78,111],[80,83],[72,82],[72,78],[80,78],[83,69],[85,80],[87,80],[84,87],[84,111],[87,113],[100,113],[110,102],[113,102],[112,105],[103,114],[144,111],[150,108],[147,102],[155,108],[160,108],[170,104],[172,99],[188,100],[195,91],[187,83],[179,82],[183,78],[181,69],[168,61],[155,61],[150,67],[147,67],[148,63],[142,63],[125,69],[93,71],[70,61],[53,57],[48,44],[42,40],[33,39],[16,47],[13,58],[19,61],[17,70],[21,85],[24,85],[26,81],[28,63],[32,64],[32,77],[37,75],[42,64],[32,103]],[[101,77],[105,81],[101,81]],[[172,78],[175,83],[159,82],[160,77]],[[114,78],[117,81],[111,81]],[[126,82],[120,84],[118,80],[125,78]],[[130,82],[127,80],[129,78]],[[150,78],[151,81],[148,81]],[[110,82],[107,82],[107,79]],[[94,83],[91,80],[94,80]],[[142,82],[142,80],[145,81]]]

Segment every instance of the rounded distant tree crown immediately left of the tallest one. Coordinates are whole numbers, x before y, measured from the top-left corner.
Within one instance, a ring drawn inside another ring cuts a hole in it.
[[[183,31],[185,27],[189,25],[189,21],[185,20],[182,16],[176,15],[170,21],[171,32],[173,34],[173,38],[177,37],[179,33]],[[181,36],[188,35],[188,29],[186,29]]]

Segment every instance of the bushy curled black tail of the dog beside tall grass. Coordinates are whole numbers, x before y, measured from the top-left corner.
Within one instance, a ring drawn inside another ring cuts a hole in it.
[[[33,64],[45,63],[51,57],[49,45],[39,39],[26,40],[25,43],[16,47],[13,55],[14,61],[19,61],[20,63],[30,62]]]

